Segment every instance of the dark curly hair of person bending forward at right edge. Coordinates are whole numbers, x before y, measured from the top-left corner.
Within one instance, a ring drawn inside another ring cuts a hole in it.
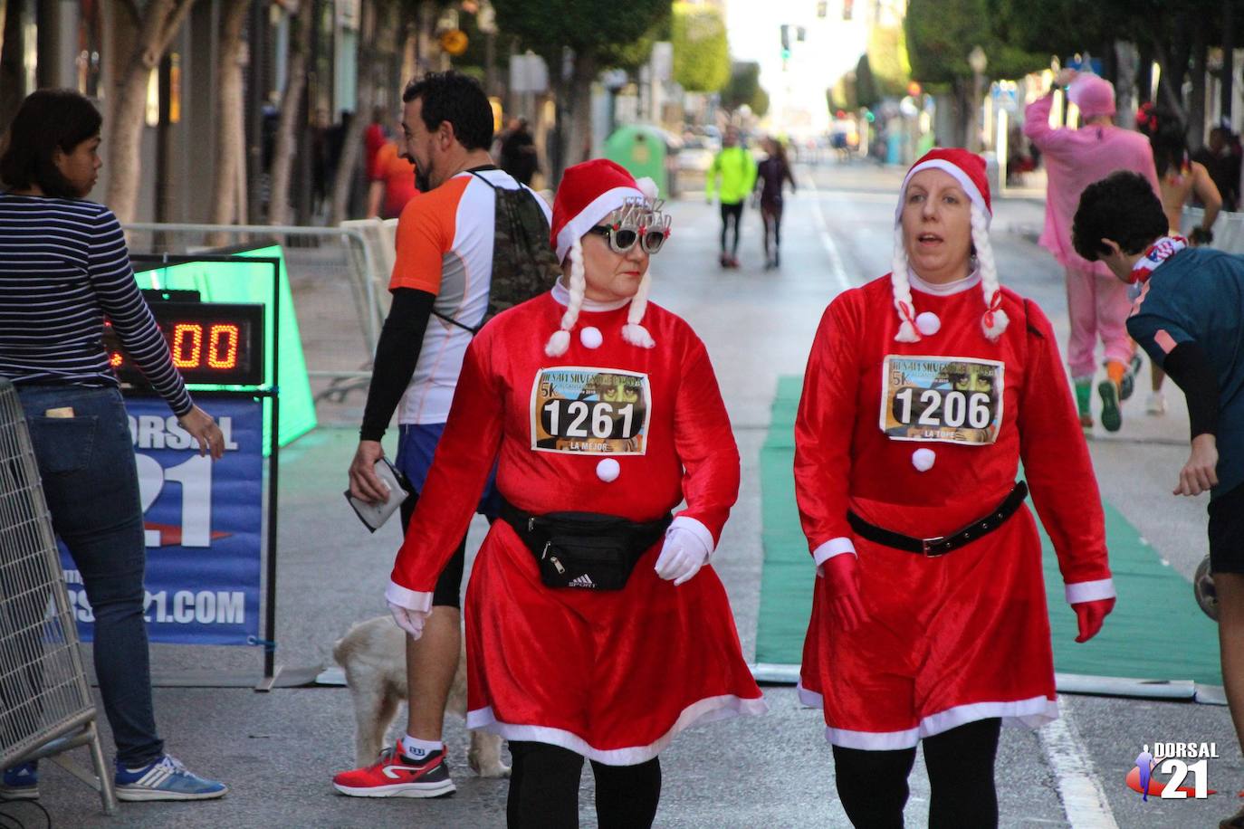
[[[1117,170],[1080,194],[1071,244],[1092,262],[1110,252],[1102,239],[1117,242],[1125,254],[1140,254],[1166,232],[1166,213],[1149,180],[1140,173]]]

